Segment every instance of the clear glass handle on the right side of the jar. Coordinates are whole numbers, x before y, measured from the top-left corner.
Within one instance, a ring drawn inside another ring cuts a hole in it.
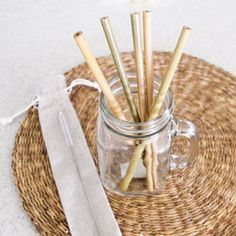
[[[190,121],[172,119],[172,137],[185,137],[189,147],[183,155],[170,155],[170,169],[182,169],[190,166],[198,154],[199,136],[196,126]]]

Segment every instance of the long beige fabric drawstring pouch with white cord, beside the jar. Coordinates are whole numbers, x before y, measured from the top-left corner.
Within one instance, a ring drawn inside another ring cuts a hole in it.
[[[56,82],[55,82],[56,81]],[[74,80],[66,88],[64,76],[42,83],[40,94],[21,112],[2,118],[11,123],[36,105],[43,139],[61,203],[72,235],[120,236],[121,232],[100,182],[69,94],[75,86],[99,90],[97,83]]]

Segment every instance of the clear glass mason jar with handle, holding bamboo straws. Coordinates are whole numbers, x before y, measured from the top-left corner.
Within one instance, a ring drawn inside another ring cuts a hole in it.
[[[129,74],[129,83],[136,104],[138,104],[135,75]],[[177,120],[173,117],[173,98],[170,91],[168,91],[162,113],[158,118],[148,122],[135,123],[132,121],[119,78],[110,79],[109,85],[129,121],[120,120],[113,115],[106,98],[101,93],[96,130],[101,181],[107,190],[118,194],[150,195],[160,192],[169,170],[188,167],[197,155],[198,133],[196,127],[190,121]],[[158,92],[159,85],[160,80],[155,77],[154,97]],[[170,153],[172,141],[176,136],[189,139],[188,150],[183,155]],[[153,173],[157,182],[154,191],[147,190],[146,168],[142,157],[137,163],[134,177],[127,191],[123,192],[120,190],[119,184],[126,175],[135,148],[140,144],[147,144],[155,149],[153,158],[156,158],[157,165],[153,169]]]

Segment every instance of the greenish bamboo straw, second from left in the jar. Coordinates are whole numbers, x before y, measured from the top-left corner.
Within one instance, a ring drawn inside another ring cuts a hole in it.
[[[125,73],[124,65],[123,65],[123,62],[119,53],[119,49],[118,49],[118,46],[114,37],[114,33],[111,28],[109,17],[103,17],[100,20],[101,20],[101,24],[102,24],[108,45],[111,50],[113,60],[116,65],[116,69],[118,71],[118,74],[119,74],[119,77],[123,86],[124,94],[126,96],[133,120],[135,122],[140,122],[138,109],[135,105],[134,98],[130,90],[129,81]]]

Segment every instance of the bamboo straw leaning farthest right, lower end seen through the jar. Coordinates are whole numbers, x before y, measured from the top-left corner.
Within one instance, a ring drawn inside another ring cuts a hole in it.
[[[152,108],[151,113],[149,115],[149,118],[148,118],[149,121],[157,118],[160,115],[161,106],[163,104],[163,101],[165,99],[167,91],[170,87],[170,83],[174,77],[175,71],[177,69],[178,63],[179,63],[181,55],[183,53],[183,48],[184,48],[186,40],[189,36],[190,30],[191,30],[190,28],[184,26],[181,31],[177,45],[176,45],[175,50],[172,54],[171,61],[168,66],[166,76],[161,83],[160,89],[158,91],[158,94],[156,96],[156,99],[155,99],[155,102],[153,105],[153,108]],[[139,159],[142,157],[142,153],[144,151],[144,148],[145,148],[144,143],[141,143],[139,146],[137,146],[135,148],[132,159],[130,160],[126,175],[121,180],[121,182],[119,184],[119,188],[122,192],[127,191],[129,184],[134,176],[137,163],[138,163]]]

